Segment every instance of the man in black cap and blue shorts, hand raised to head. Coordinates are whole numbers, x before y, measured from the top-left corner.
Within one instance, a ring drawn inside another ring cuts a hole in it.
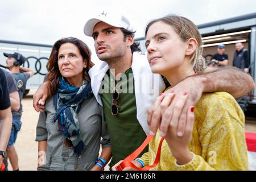
[[[19,100],[20,100],[19,110],[18,111],[11,110],[11,113],[13,114],[13,126],[11,129],[11,136],[8,144],[8,148],[9,148],[8,157],[9,157],[11,166],[13,167],[13,170],[17,171],[19,170],[18,155],[14,148],[14,143],[15,143],[18,131],[20,130],[20,126],[22,125],[22,122],[20,120],[22,116],[21,100],[26,90],[26,84],[27,84],[28,78],[33,76],[35,73],[29,68],[20,67],[20,65],[22,65],[26,61],[26,57],[22,56],[20,53],[17,53],[17,52],[3,53],[3,55],[8,57],[6,59],[6,66],[10,68],[10,71],[15,78],[16,85],[18,86]],[[20,71],[22,71],[22,73],[20,73]]]

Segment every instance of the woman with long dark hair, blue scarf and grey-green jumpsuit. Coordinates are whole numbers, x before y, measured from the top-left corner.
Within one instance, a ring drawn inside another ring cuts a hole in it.
[[[36,127],[38,170],[102,170],[111,158],[102,108],[90,86],[90,57],[76,38],[53,45],[47,63],[50,97]]]

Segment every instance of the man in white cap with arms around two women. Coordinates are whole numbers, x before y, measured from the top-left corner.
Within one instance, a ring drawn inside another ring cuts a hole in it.
[[[104,109],[112,145],[113,158],[110,162],[112,167],[137,149],[150,132],[147,125],[147,110],[154,104],[166,85],[160,75],[151,72],[146,56],[138,53],[140,49],[139,44],[134,42],[135,31],[122,14],[102,11],[96,18],[86,22],[84,33],[93,37],[97,56],[102,60],[100,64],[90,69],[89,75],[94,96]],[[246,86],[246,92],[254,87],[253,80],[249,76],[243,73],[237,74],[246,80],[247,84],[244,84],[244,80],[238,80],[238,85]],[[187,78],[172,88],[176,95],[171,105],[175,105],[179,96],[186,91],[189,93],[187,105],[184,107],[186,111],[189,106],[196,104],[205,90],[207,92],[225,90],[233,96],[246,93],[245,90],[238,89],[238,85],[229,87],[226,86],[229,84],[219,84],[219,79],[212,77],[221,77],[225,82],[234,81],[233,77],[226,76],[226,72],[222,71],[207,73],[204,81],[200,76]],[[153,82],[154,86],[151,88]],[[33,105],[37,111],[42,111],[43,108],[38,103],[41,98],[44,99],[40,104],[45,103],[47,84],[43,84],[34,95]],[[125,86],[129,90],[127,93],[122,92]],[[145,86],[147,88],[143,92]],[[198,91],[195,89],[197,87],[200,88]],[[182,114],[185,115],[186,111]],[[153,116],[159,119],[160,114],[158,110]],[[141,164],[138,162],[137,165]]]

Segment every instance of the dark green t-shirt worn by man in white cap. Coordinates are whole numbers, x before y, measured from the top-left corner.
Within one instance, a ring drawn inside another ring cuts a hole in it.
[[[106,75],[108,75],[108,77],[104,78],[101,85],[101,89],[104,89],[104,92],[101,94],[101,100],[103,103],[104,115],[112,147],[113,157],[110,162],[111,168],[114,164],[118,163],[119,160],[125,159],[139,146],[141,146],[147,136],[137,119],[132,69],[127,69],[127,71],[122,75],[123,79],[121,76],[121,79],[117,84],[115,84],[115,79],[112,74],[110,74],[110,71],[108,71]],[[129,88],[129,85],[132,87]],[[111,113],[112,92],[114,90],[114,86],[115,89],[118,89],[120,92],[117,115],[112,115]],[[129,90],[131,93],[128,92]],[[144,149],[141,155],[147,151],[148,147]]]

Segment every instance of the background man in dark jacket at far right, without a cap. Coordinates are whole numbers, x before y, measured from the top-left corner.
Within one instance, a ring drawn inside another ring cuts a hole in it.
[[[242,69],[246,73],[249,73],[250,60],[249,53],[243,46],[243,43],[236,43],[236,51],[234,52],[233,67]]]

